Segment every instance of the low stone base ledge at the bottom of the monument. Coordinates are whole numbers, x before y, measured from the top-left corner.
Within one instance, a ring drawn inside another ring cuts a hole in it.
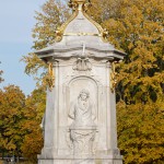
[[[85,156],[57,156],[44,159],[38,156],[38,164],[122,164],[121,155],[85,155]]]

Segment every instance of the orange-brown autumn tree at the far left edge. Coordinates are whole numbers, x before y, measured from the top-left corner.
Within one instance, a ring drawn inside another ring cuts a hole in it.
[[[21,155],[24,131],[21,130],[25,95],[19,86],[0,90],[0,148],[9,154]]]

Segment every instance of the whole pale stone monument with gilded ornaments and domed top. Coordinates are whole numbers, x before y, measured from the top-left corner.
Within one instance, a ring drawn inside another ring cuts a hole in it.
[[[86,14],[90,1],[69,5],[74,12],[54,45],[36,51],[50,75],[38,164],[122,164],[115,62],[126,54],[107,43],[107,32]]]

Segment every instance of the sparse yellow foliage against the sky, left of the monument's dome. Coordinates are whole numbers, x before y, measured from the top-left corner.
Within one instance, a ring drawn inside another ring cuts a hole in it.
[[[33,28],[34,46],[33,49],[38,50],[55,43],[56,31],[70,15],[63,1],[48,0],[42,7],[42,12],[35,12],[37,21]],[[46,84],[47,65],[44,63],[34,52],[24,56],[22,60],[26,63],[25,73],[33,75],[37,85]]]

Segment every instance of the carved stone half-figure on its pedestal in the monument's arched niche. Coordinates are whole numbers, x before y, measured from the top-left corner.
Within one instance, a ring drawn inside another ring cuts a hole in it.
[[[93,154],[96,125],[95,107],[87,90],[82,90],[71,105],[69,117],[73,119],[69,130],[74,154]]]

